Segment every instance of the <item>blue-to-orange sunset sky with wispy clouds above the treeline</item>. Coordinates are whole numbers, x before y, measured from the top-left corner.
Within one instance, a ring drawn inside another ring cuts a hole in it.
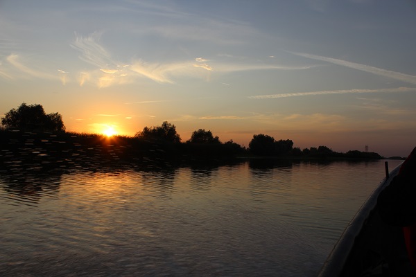
[[[406,157],[415,26],[413,0],[0,0],[0,117],[25,102],[73,132],[167,120],[182,141]]]

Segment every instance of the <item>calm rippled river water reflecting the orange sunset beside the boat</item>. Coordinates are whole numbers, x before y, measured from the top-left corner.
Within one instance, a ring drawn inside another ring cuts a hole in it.
[[[383,177],[384,161],[1,173],[0,275],[316,276]]]

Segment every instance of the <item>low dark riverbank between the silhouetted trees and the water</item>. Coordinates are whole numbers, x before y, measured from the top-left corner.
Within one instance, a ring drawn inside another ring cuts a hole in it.
[[[108,163],[146,165],[150,163],[199,163],[232,159],[279,160],[374,160],[372,152],[315,152],[309,155],[255,155],[236,143],[170,143],[128,136],[104,136],[71,132],[0,131],[0,168],[3,170],[94,167]],[[318,148],[319,149],[319,148]],[[400,157],[392,157],[401,159]]]

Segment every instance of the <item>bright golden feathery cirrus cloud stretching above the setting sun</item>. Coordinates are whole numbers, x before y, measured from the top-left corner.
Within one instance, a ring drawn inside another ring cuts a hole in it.
[[[207,73],[230,73],[237,71],[258,70],[304,70],[316,65],[290,66],[280,64],[262,64],[257,61],[242,63],[211,61],[205,57],[196,57],[193,61],[182,60],[171,63],[146,62],[133,60],[128,64],[119,64],[112,59],[112,55],[100,44],[103,33],[95,32],[88,36],[76,35],[71,47],[81,53],[80,60],[96,66],[95,71],[80,73],[80,85],[86,81],[95,80],[98,87],[109,87],[112,84],[132,82],[138,77],[147,78],[155,82],[174,84],[175,78],[207,77]]]

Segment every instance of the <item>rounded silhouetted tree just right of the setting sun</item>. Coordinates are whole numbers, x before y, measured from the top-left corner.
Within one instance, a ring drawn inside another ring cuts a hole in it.
[[[145,140],[162,140],[171,143],[180,143],[180,135],[176,132],[175,125],[164,121],[160,126],[144,127],[142,132],[135,134],[136,138]]]

